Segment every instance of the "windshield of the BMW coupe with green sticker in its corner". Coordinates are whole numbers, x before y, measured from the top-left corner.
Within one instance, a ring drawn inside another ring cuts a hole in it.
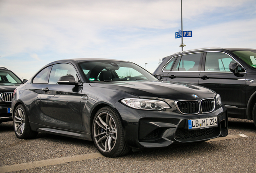
[[[132,62],[82,62],[80,66],[91,82],[122,80],[157,80],[152,74]]]

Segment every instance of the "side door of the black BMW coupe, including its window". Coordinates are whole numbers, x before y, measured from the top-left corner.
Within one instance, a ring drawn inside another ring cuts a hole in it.
[[[76,70],[71,64],[52,66],[49,82],[42,89],[41,110],[46,126],[82,131],[82,86],[58,84],[58,79],[67,74],[77,78]]]

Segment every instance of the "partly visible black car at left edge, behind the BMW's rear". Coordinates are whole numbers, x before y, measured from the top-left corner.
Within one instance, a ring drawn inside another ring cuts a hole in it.
[[[23,81],[12,71],[0,67],[0,123],[12,121],[13,91],[21,84]]]

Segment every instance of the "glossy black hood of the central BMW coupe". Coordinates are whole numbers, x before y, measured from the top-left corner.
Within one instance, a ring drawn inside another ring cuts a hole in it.
[[[205,87],[182,82],[168,81],[111,81],[111,82],[92,82],[92,87],[103,87],[125,91],[144,98],[169,98],[183,99],[193,98],[192,95],[198,95],[199,98],[214,97],[215,92]],[[190,95],[190,97],[188,97]]]

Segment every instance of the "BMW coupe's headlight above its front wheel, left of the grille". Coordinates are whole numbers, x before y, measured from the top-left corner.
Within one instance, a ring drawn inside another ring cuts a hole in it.
[[[160,111],[165,108],[170,108],[164,101],[149,100],[149,99],[123,99],[121,101],[125,105],[135,109],[145,109]]]

